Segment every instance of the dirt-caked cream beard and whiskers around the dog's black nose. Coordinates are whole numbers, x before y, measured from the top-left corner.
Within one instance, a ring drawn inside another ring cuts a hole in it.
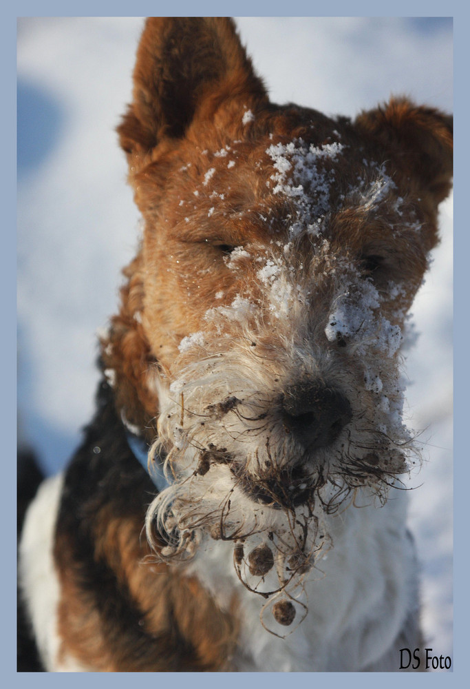
[[[359,392],[350,373],[351,423],[330,446],[306,449],[279,417],[280,371],[284,382],[299,371],[318,376],[320,356],[307,357],[307,347],[293,344],[287,351],[284,342],[284,362],[279,352],[260,358],[262,347],[253,341],[245,337],[234,347],[231,339],[231,349],[187,364],[166,395],[160,387],[153,453],[165,458],[171,485],[149,508],[147,535],[169,563],[191,558],[210,539],[233,542],[242,583],[272,604],[279,596],[284,604],[295,599],[298,622],[306,606],[303,580],[321,576],[332,545],[332,515],[363,486],[371,502],[374,496],[384,502],[407,468],[409,439],[396,414],[392,423],[389,409],[372,412],[370,393]],[[334,362],[329,366],[328,375],[345,384]]]

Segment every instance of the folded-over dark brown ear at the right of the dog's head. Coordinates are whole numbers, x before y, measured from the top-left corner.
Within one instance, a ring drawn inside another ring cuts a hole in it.
[[[435,210],[451,188],[453,160],[452,116],[407,99],[392,99],[385,107],[363,112],[359,131],[383,147],[423,188]]]

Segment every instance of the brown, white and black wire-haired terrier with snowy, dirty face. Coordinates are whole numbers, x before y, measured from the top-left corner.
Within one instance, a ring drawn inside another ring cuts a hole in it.
[[[150,18],[144,219],[83,443],[30,503],[43,669],[396,671],[420,648],[400,348],[452,119],[275,105],[226,18]]]

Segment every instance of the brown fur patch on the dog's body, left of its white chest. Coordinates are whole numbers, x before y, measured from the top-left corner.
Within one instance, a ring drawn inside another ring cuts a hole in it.
[[[98,672],[226,670],[236,640],[235,615],[222,614],[193,577],[156,564],[141,528],[139,520],[113,517],[106,509],[96,524],[94,561],[116,577],[131,610],[124,617],[116,610],[113,624],[97,605],[107,591],[84,586],[70,544],[58,538],[61,658],[72,654]]]

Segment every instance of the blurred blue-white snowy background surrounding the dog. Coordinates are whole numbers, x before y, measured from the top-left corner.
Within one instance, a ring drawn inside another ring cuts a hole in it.
[[[390,93],[451,112],[452,23],[431,18],[242,18],[273,101],[354,116]],[[131,95],[140,18],[18,23],[19,442],[47,473],[92,415],[96,331],[116,311],[138,213],[114,127]],[[415,302],[407,415],[425,462],[410,522],[423,566],[423,626],[452,655],[452,203]]]

